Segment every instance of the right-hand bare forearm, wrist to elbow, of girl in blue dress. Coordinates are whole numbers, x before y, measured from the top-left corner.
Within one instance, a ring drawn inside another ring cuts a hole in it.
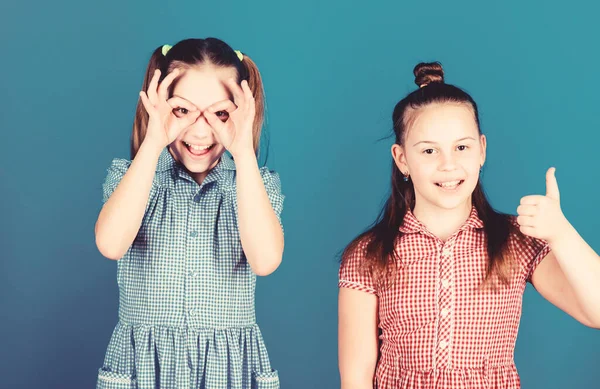
[[[267,196],[254,152],[238,155],[235,162],[242,248],[252,271],[266,276],[281,263],[283,230]]]

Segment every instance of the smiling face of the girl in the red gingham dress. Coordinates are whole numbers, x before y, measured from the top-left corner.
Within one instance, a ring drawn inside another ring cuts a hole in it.
[[[486,140],[466,104],[431,104],[411,113],[404,146],[392,154],[415,188],[415,207],[451,210],[471,205],[485,162]]]

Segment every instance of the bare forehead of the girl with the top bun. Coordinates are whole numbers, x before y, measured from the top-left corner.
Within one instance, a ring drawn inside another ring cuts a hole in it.
[[[473,109],[466,104],[430,104],[412,113],[407,141],[454,142],[464,137],[477,138],[479,130]]]

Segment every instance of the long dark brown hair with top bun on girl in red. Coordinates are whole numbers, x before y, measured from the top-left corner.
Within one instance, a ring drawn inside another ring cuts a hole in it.
[[[444,83],[444,71],[439,62],[420,63],[414,68],[413,73],[419,89],[400,100],[392,114],[396,144],[404,145],[407,129],[418,114],[418,110],[436,103],[459,103],[469,106],[473,110],[481,134],[477,104],[462,89]],[[518,233],[518,229],[511,222],[510,215],[497,212],[492,208],[481,182],[477,183],[473,191],[472,201],[479,218],[483,221],[486,234],[489,259],[485,283],[497,279],[506,284],[514,263],[510,260],[509,236],[513,232]],[[391,194],[375,223],[344,249],[342,262],[356,250],[364,250],[363,271],[371,273],[379,286],[390,281],[390,276],[400,263],[398,253],[394,249],[396,240],[402,236],[399,228],[406,212],[414,209],[414,206],[415,189],[412,180],[405,181],[402,172],[392,161]]]

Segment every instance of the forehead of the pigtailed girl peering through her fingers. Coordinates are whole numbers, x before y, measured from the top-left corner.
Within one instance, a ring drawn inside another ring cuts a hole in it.
[[[225,84],[230,78],[237,78],[235,68],[203,65],[186,69],[178,78],[173,95],[203,110],[216,102],[231,99],[231,92]]]

